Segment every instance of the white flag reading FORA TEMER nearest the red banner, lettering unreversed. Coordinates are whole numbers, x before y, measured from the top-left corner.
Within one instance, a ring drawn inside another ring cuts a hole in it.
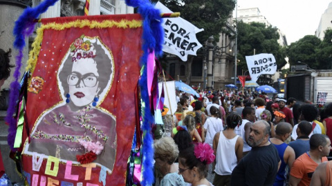
[[[160,2],[156,3],[155,7],[160,9],[160,12],[172,13]],[[202,47],[196,39],[196,33],[204,29],[196,28],[195,25],[181,17],[164,18],[163,28],[165,31],[163,51],[180,57],[182,61],[187,61],[188,54],[196,56],[197,50]]]

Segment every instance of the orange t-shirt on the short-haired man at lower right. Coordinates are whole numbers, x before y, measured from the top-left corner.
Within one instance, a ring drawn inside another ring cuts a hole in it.
[[[322,157],[322,162],[324,161],[327,161],[326,157]],[[318,164],[309,157],[308,153],[305,153],[294,161],[290,175],[301,179],[299,186],[308,186],[317,166]]]

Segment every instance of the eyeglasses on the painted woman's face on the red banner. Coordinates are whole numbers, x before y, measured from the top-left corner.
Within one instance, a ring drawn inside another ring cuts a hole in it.
[[[85,74],[83,76],[79,74],[68,75],[67,78],[68,85],[77,85],[80,84],[81,81],[83,81],[86,87],[94,87],[95,85],[97,85],[98,76],[95,76],[94,74]]]

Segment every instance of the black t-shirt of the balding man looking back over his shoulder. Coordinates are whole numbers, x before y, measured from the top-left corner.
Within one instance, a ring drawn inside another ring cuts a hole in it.
[[[278,172],[279,154],[271,143],[252,147],[233,169],[231,185],[273,185]]]

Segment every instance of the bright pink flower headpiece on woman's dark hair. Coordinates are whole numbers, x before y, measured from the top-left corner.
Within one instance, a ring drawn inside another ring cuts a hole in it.
[[[198,143],[194,147],[194,154],[196,158],[203,163],[206,162],[206,164],[212,163],[216,158],[213,153],[214,151],[208,143]]]

